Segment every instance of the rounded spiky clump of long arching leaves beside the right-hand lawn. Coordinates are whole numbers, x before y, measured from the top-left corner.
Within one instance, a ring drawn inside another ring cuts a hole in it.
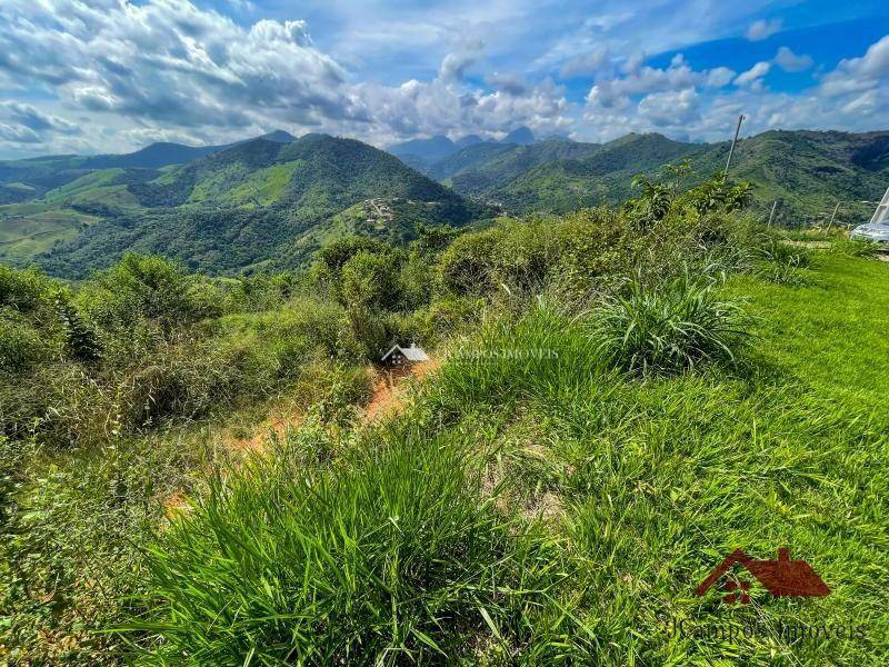
[[[732,361],[748,336],[737,300],[688,273],[649,287],[636,279],[592,316],[600,354],[630,372],[677,372],[705,361]]]

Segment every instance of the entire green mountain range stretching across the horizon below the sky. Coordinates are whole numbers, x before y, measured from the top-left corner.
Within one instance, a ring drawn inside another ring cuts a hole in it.
[[[633,176],[668,162],[688,160],[693,183],[725,168],[728,150],[656,133],[538,141],[519,128],[502,141],[436,137],[390,155],[276,131],[226,146],[0,162],[0,260],[74,279],[127,250],[219,273],[299,267],[350,233],[403,242],[419,225],[616,205],[632,196]],[[812,223],[837,203],[840,221],[859,222],[889,185],[889,132],[765,132],[739,142],[730,176],[753,183],[763,212],[778,201],[780,222]]]

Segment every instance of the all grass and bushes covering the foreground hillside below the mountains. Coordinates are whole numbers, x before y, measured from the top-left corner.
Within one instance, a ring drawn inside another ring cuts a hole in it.
[[[337,239],[306,273],[3,269],[0,655],[879,663],[889,266],[745,199],[652,181],[619,210]],[[393,341],[440,366],[364,419]],[[785,546],[830,596],[693,596]]]

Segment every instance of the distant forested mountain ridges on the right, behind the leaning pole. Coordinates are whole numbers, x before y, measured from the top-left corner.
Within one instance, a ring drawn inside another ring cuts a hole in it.
[[[731,176],[755,185],[767,209],[806,225],[832,211],[848,221],[869,217],[889,185],[889,132],[769,131],[737,147]],[[428,168],[455,190],[501,202],[513,213],[565,212],[616,203],[632,195],[637,173],[655,175],[667,162],[690,160],[700,180],[725,168],[729,142],[685,143],[661,135],[628,135],[605,145],[546,141],[531,146],[477,145]],[[826,210],[827,209],[827,210]]]

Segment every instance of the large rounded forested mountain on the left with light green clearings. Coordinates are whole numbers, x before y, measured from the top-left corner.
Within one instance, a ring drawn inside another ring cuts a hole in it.
[[[327,135],[259,138],[138,173],[96,171],[49,192],[41,206],[87,219],[37,263],[81,278],[138,250],[209,272],[296,267],[338,236],[403,241],[420,223],[463,225],[483,215],[397,158]]]

